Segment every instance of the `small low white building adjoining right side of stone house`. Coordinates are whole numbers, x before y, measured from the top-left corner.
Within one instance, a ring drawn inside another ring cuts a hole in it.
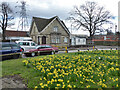
[[[87,44],[86,38],[87,35],[71,34],[71,46],[86,45]]]

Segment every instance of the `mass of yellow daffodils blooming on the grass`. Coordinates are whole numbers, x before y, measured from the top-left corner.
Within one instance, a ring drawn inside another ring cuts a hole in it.
[[[34,88],[90,88],[92,85],[95,88],[111,88],[107,81],[118,87],[118,77],[115,77],[120,66],[117,53],[117,50],[86,51],[76,55],[32,58],[23,63],[33,66],[42,75],[40,83]]]

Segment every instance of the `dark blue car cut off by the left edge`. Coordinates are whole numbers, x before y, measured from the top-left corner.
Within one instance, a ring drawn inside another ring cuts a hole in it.
[[[2,60],[10,58],[19,58],[22,54],[21,47],[15,42],[0,42],[0,58]]]

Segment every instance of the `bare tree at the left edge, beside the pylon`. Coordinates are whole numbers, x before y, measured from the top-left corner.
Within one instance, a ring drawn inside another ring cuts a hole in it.
[[[5,40],[5,30],[8,25],[11,25],[10,23],[8,23],[8,21],[13,19],[13,10],[10,8],[8,3],[2,2],[0,4],[0,14],[0,27],[2,28],[2,39]]]

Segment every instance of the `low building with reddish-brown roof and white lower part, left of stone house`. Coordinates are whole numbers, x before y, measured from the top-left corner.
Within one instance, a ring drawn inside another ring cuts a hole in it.
[[[6,30],[5,31],[6,40],[32,40],[29,37],[29,32],[27,31],[13,31],[13,30]]]

